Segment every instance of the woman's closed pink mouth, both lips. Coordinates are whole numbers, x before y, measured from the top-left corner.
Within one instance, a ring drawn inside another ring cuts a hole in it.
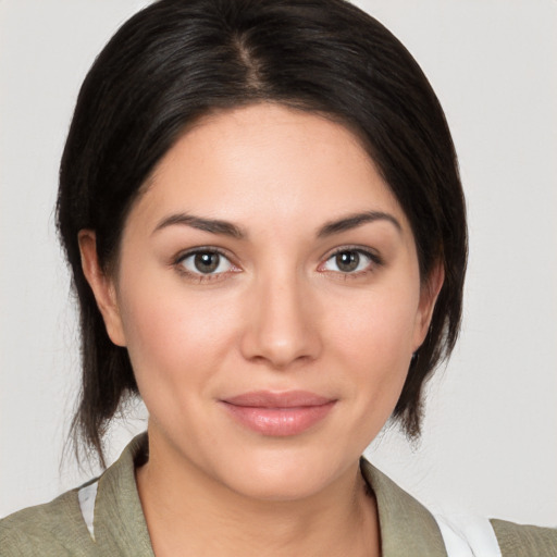
[[[299,435],[324,420],[336,404],[307,391],[258,391],[220,400],[242,425],[262,435]]]

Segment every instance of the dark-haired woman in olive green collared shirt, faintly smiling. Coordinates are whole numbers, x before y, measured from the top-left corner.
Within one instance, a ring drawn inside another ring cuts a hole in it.
[[[84,83],[58,218],[82,312],[76,431],[102,458],[138,393],[148,435],[3,521],[2,555],[466,543],[360,462],[392,414],[419,434],[467,249],[443,111],[377,22],[337,0],[154,3]],[[548,529],[482,528],[503,555],[556,552]]]

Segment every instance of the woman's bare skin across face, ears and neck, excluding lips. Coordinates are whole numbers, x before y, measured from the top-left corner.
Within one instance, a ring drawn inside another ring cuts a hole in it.
[[[323,234],[369,211],[382,216]],[[359,457],[396,405],[443,275],[420,280],[408,220],[356,136],[270,103],[214,113],[159,163],[114,275],[94,232],[79,242],[150,413],[137,483],[157,555],[380,555]],[[197,270],[195,248],[222,251],[216,272]],[[334,405],[299,434],[264,435],[221,404],[259,389]]]

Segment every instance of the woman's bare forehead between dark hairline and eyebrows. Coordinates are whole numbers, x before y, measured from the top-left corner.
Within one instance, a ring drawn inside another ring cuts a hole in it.
[[[190,127],[162,158],[131,216],[194,212],[255,226],[319,226],[362,210],[394,213],[406,225],[357,135],[315,113],[260,103]]]

